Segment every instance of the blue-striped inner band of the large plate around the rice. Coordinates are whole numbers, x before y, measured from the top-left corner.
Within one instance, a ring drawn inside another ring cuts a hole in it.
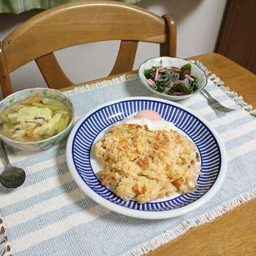
[[[197,145],[202,165],[202,175],[198,176],[198,188],[193,193],[180,195],[163,202],[139,204],[124,201],[100,184],[90,162],[90,152],[95,138],[102,130],[130,114],[150,109],[157,111],[164,120],[173,122]],[[86,117],[78,127],[72,142],[72,159],[78,174],[94,192],[120,206],[143,211],[164,211],[181,208],[198,200],[214,184],[221,167],[220,148],[209,128],[196,116],[171,103],[155,100],[124,100],[104,106]]]

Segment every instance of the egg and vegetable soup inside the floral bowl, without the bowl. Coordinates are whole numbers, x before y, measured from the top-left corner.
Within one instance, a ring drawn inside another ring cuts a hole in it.
[[[58,100],[28,98],[2,110],[0,133],[24,142],[43,140],[64,130],[70,117],[68,108]]]

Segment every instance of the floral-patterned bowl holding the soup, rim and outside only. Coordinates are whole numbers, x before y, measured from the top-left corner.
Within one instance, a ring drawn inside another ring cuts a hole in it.
[[[18,148],[20,150],[28,150],[28,151],[36,151],[36,150],[45,150],[47,148],[50,148],[63,140],[70,132],[73,124],[74,124],[74,118],[75,118],[75,108],[72,100],[68,98],[65,94],[48,88],[34,88],[34,89],[26,89],[19,92],[15,92],[6,98],[4,98],[2,101],[0,101],[0,112],[1,110],[7,108],[8,106],[14,104],[14,102],[17,102],[22,99],[27,99],[31,97],[42,97],[42,98],[52,98],[54,100],[58,100],[62,104],[64,104],[71,115],[71,121],[68,124],[68,126],[60,133],[44,139],[44,140],[38,140],[33,142],[22,142],[17,140],[12,140],[10,138],[7,138],[0,134],[0,138],[8,145]]]

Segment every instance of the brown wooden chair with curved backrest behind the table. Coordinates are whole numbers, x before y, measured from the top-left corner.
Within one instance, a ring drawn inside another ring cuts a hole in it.
[[[0,42],[0,84],[12,93],[9,73],[35,60],[49,88],[74,84],[62,71],[54,51],[104,40],[121,40],[110,73],[132,70],[138,41],[160,43],[160,56],[176,56],[176,23],[140,7],[116,1],[84,1],[46,10],[30,18]]]

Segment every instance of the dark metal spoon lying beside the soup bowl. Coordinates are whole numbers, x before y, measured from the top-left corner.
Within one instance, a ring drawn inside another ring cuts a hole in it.
[[[0,144],[2,146],[2,152],[6,163],[6,168],[0,174],[0,183],[6,188],[17,188],[24,182],[26,173],[23,169],[14,167],[10,164],[2,140],[0,140]]]

